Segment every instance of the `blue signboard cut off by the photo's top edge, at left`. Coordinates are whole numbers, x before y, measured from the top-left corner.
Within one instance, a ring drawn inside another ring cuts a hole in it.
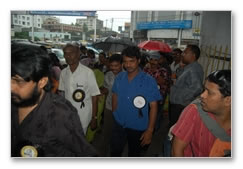
[[[29,11],[31,15],[95,16],[96,11]]]

